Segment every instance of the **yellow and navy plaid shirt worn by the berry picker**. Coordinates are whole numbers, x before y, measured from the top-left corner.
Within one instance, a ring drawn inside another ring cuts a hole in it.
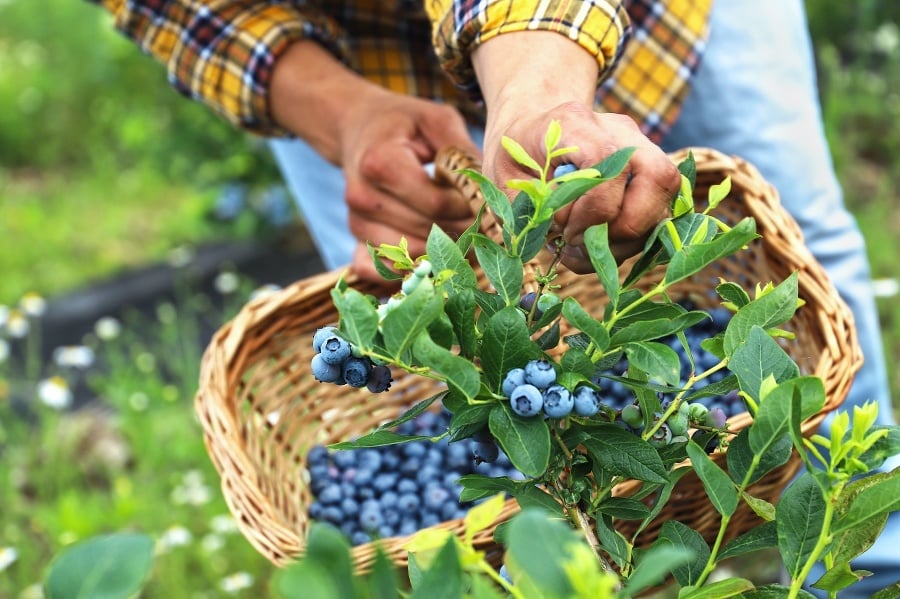
[[[181,93],[232,123],[285,135],[268,108],[276,59],[320,43],[388,89],[456,105],[480,120],[469,56],[506,32],[566,35],[597,60],[597,109],[668,131],[703,50],[712,0],[89,0],[166,65]]]

